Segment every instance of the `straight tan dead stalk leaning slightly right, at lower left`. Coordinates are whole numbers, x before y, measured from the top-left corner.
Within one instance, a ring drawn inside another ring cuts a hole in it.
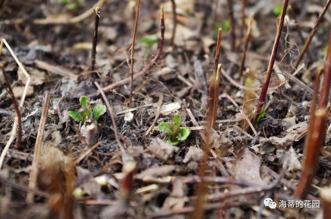
[[[33,152],[33,160],[32,160],[32,167],[29,174],[29,189],[35,189],[37,184],[37,176],[38,176],[38,164],[39,164],[39,158],[40,158],[40,151],[41,151],[41,143],[44,136],[44,128],[45,123],[47,119],[47,113],[48,113],[48,106],[49,106],[49,100],[51,95],[46,94],[45,102],[42,109],[42,114],[39,122],[38,132],[37,132],[37,138],[36,143],[34,146],[34,152]],[[33,193],[27,193],[26,195],[26,202],[27,203],[33,203],[34,194]]]

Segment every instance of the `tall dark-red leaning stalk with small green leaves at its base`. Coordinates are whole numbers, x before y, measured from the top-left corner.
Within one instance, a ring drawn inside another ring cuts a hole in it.
[[[273,64],[275,63],[278,44],[279,44],[279,39],[280,39],[280,34],[282,32],[282,28],[283,28],[283,25],[284,25],[284,18],[285,18],[285,15],[286,15],[286,9],[287,9],[288,3],[289,3],[289,0],[284,1],[284,6],[283,6],[282,13],[281,13],[280,21],[279,21],[279,24],[278,24],[278,29],[277,29],[277,33],[276,33],[275,42],[274,42],[273,48],[272,48],[272,53],[271,53],[271,57],[270,57],[268,70],[267,70],[267,73],[265,75],[265,80],[262,84],[262,89],[261,89],[261,94],[260,94],[260,97],[259,97],[258,105],[256,107],[254,117],[252,119],[253,126],[255,126],[255,124],[256,124],[256,122],[259,118],[260,112],[261,112],[263,104],[264,104],[265,96],[266,96],[267,91],[268,91],[268,86],[269,86],[269,83],[270,83],[270,78],[271,78],[271,73],[272,73],[272,67],[273,67]]]

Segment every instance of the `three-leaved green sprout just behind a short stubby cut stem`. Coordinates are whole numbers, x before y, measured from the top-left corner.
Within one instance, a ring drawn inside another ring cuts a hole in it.
[[[86,96],[79,98],[81,108],[78,110],[70,110],[67,114],[75,121],[81,121],[84,123],[86,116],[89,117],[93,112],[93,118],[98,121],[99,117],[106,112],[105,105],[98,105],[92,109],[90,102]]]

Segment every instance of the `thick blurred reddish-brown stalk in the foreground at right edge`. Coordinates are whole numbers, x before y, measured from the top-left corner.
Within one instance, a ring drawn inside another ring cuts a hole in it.
[[[317,83],[316,83],[317,84]],[[329,35],[329,48],[324,65],[324,80],[318,109],[314,111],[312,106],[312,114],[309,121],[307,139],[305,142],[303,173],[294,193],[295,198],[304,198],[310,189],[310,184],[316,175],[318,167],[318,158],[320,155],[320,148],[324,145],[325,129],[327,118],[327,104],[331,86],[331,29]],[[315,88],[315,90],[317,90]],[[316,97],[315,97],[316,98]]]

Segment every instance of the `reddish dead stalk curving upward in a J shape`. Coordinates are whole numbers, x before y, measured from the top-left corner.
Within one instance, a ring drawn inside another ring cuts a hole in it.
[[[160,47],[159,47],[158,53],[156,54],[156,56],[151,60],[151,62],[144,69],[142,69],[141,71],[139,71],[138,73],[133,75],[133,80],[135,80],[138,77],[141,77],[142,75],[144,75],[159,60],[159,58],[161,56],[161,53],[162,53],[163,45],[164,45],[165,29],[166,29],[166,26],[165,26],[165,20],[164,20],[164,13],[163,13],[163,8],[161,7],[161,39],[160,39]],[[104,92],[108,92],[108,91],[113,90],[114,88],[119,87],[123,84],[126,84],[130,81],[131,81],[131,77],[128,77],[128,78],[120,80],[120,81],[118,81],[114,84],[108,85],[107,87],[104,87],[102,90]]]

